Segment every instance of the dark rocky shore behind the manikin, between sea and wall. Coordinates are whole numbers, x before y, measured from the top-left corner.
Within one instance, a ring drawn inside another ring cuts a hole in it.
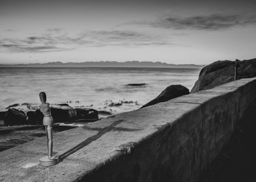
[[[57,122],[82,124],[99,120],[98,111],[94,109],[61,110],[52,108],[51,112],[54,118],[53,133],[77,127],[77,125],[59,125]],[[40,110],[31,110],[25,114],[22,110],[11,108],[0,112],[0,117],[4,123],[0,125],[0,151],[46,136],[42,125],[43,114]]]

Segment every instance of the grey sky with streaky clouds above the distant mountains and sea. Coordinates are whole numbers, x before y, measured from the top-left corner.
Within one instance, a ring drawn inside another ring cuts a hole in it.
[[[0,64],[256,57],[256,1],[0,0]]]

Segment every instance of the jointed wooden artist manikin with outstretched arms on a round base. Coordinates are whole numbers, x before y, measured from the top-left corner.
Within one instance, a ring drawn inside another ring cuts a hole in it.
[[[40,165],[53,166],[53,165],[57,164],[59,159],[56,155],[52,155],[52,148],[53,148],[52,124],[53,124],[54,120],[52,119],[50,109],[55,108],[55,109],[69,110],[69,109],[72,109],[72,107],[61,106],[61,105],[52,105],[52,104],[46,103],[46,94],[44,92],[40,92],[39,97],[40,97],[40,101],[42,103],[41,105],[39,105],[39,106],[27,105],[27,108],[33,109],[33,110],[40,109],[42,114],[44,114],[42,124],[45,125],[45,132],[46,132],[46,136],[47,136],[47,146],[48,146],[48,156],[44,156],[40,159]]]

